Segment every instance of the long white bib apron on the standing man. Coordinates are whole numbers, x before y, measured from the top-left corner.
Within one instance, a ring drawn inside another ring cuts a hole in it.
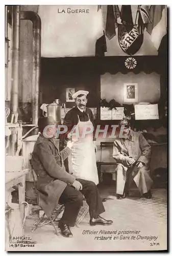
[[[93,181],[97,185],[99,183],[99,178],[97,174],[93,135],[90,133],[82,138],[84,126],[87,125],[88,127],[92,127],[93,124],[90,119],[86,122],[81,122],[79,115],[78,119],[79,122],[77,126],[80,137],[76,138],[76,135],[71,135],[74,143],[71,148],[71,155],[68,157],[69,173],[78,179]]]

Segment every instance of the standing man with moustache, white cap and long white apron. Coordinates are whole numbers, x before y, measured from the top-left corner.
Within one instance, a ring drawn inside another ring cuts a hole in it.
[[[78,91],[72,95],[76,106],[67,112],[63,124],[68,128],[68,139],[73,141],[68,158],[69,173],[76,178],[93,181],[97,185],[99,178],[93,143],[94,119],[92,111],[86,108],[88,93]]]

